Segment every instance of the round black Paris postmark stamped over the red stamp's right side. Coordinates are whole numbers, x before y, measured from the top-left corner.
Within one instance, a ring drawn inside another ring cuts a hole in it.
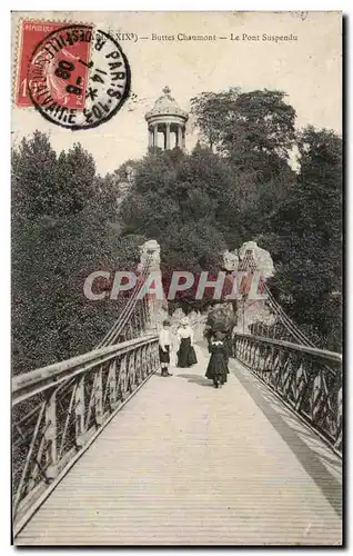
[[[110,120],[127,100],[130,81],[129,62],[117,40],[84,24],[49,33],[34,48],[28,72],[34,108],[71,130]]]

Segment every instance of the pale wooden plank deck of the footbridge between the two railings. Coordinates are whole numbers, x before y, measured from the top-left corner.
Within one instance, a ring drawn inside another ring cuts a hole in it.
[[[341,461],[243,369],[154,375],[17,545],[339,545]]]

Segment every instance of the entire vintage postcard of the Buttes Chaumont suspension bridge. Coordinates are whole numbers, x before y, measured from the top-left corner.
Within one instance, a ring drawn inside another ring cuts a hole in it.
[[[336,546],[341,12],[12,12],[17,546]]]

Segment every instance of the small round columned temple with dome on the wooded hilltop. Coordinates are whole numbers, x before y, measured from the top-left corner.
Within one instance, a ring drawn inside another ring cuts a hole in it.
[[[155,101],[153,109],[145,115],[149,127],[149,147],[185,149],[185,123],[189,119],[171,96],[169,87]],[[162,133],[163,145],[159,145],[159,133]]]

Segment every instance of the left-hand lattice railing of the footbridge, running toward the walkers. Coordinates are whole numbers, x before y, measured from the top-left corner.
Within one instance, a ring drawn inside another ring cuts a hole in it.
[[[158,337],[145,336],[12,379],[14,534],[158,361]]]

